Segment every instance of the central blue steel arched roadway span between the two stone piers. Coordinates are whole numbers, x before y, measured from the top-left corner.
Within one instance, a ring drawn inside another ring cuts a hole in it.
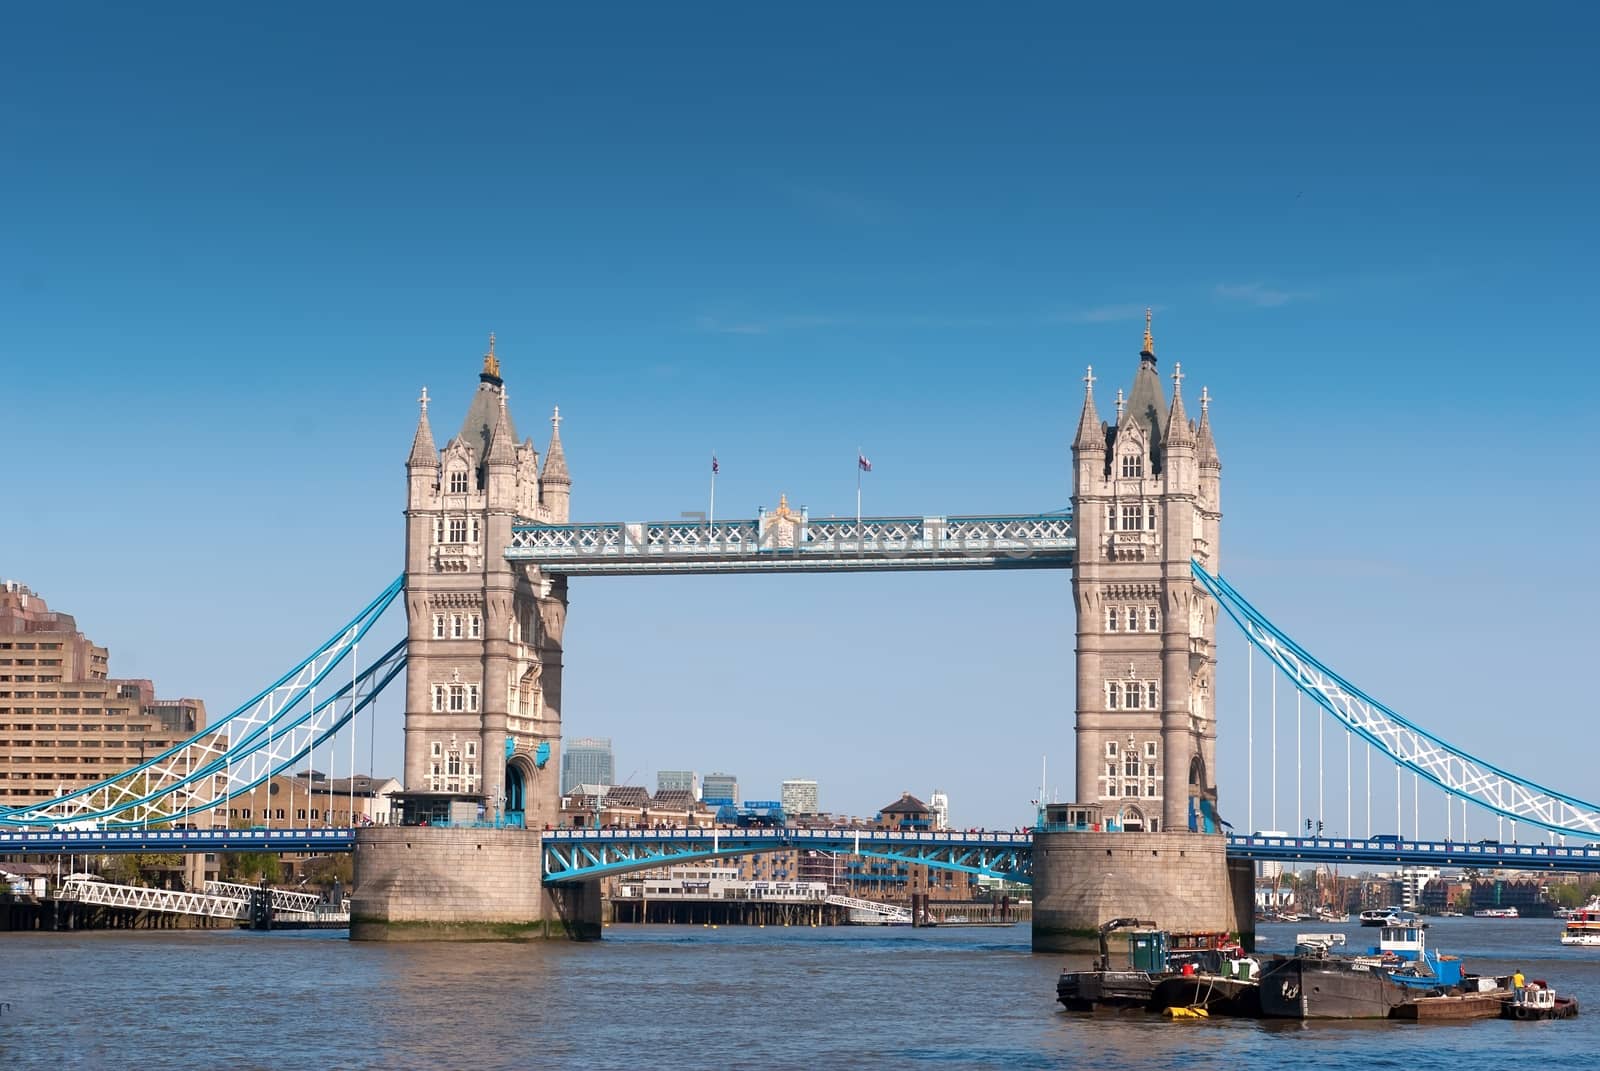
[[[544,882],[562,884],[709,858],[813,850],[1032,882],[1032,839],[1011,832],[834,829],[555,829],[544,834]]]

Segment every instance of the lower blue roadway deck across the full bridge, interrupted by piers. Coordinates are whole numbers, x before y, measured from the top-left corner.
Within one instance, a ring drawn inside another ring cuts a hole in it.
[[[1136,837],[1139,834],[1128,834]],[[878,829],[547,829],[546,856],[563,853],[547,880],[662,866],[709,855],[784,848],[885,855],[974,871],[989,861],[1021,871],[1032,855],[1029,832],[894,832]],[[117,852],[349,852],[355,831],[317,829],[3,829],[0,855]],[[965,858],[968,861],[962,861]],[[1008,861],[1003,853],[1013,853]],[[1478,869],[1600,872],[1600,844],[1496,844],[1443,839],[1259,837],[1227,839],[1232,858],[1342,866],[1472,866]],[[606,861],[608,860],[608,861]],[[976,863],[973,860],[978,860]],[[582,871],[582,872],[579,872]],[[1016,871],[1011,871],[1013,874]]]

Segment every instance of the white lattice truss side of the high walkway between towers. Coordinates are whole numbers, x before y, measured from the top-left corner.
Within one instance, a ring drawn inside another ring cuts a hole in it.
[[[805,559],[960,559],[1024,562],[1072,552],[1069,514],[1006,517],[829,517],[758,520],[646,520],[574,525],[517,523],[510,560],[750,560],[778,552]]]

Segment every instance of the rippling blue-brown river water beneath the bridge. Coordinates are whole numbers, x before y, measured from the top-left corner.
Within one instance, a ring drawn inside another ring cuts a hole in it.
[[[339,932],[0,937],[0,1068],[1592,1068],[1600,948],[1549,919],[1435,919],[1578,1020],[1165,1021],[1054,1002],[1006,929],[610,927],[592,945],[352,945]],[[1262,951],[1296,929],[1267,925]],[[1347,927],[1350,946],[1374,930]]]

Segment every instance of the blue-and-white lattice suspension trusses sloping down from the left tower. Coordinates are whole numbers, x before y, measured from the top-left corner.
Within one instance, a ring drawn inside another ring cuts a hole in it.
[[[206,815],[290,770],[330,740],[405,666],[405,640],[357,672],[360,640],[400,592],[395,581],[366,610],[275,685],[221,722],[96,784],[30,807],[0,810],[0,824],[141,826]],[[349,660],[350,676],[325,684]],[[326,687],[317,701],[317,687]],[[226,810],[224,815],[226,818]]]

